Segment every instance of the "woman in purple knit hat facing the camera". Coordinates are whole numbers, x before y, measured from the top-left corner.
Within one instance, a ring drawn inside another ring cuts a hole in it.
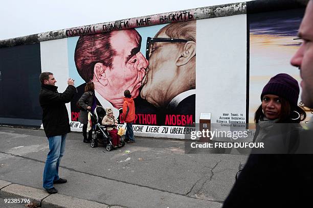
[[[272,77],[264,86],[262,103],[255,112],[253,142],[263,143],[265,149],[254,149],[253,153],[291,153],[297,148],[302,129],[299,123],[306,118],[305,111],[297,105],[299,91],[297,80],[287,74]],[[242,168],[236,179],[241,171]]]

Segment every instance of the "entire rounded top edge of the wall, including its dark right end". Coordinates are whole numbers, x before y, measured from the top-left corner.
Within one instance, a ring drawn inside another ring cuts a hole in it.
[[[238,14],[305,8],[308,1],[309,0],[257,0],[166,12],[0,40],[0,48],[67,37],[104,33],[114,30],[162,25],[178,21],[192,21]]]

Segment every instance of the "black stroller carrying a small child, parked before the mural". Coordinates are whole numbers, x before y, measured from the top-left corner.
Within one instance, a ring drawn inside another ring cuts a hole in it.
[[[92,123],[95,125],[95,138],[92,139],[90,146],[97,147],[98,143],[103,144],[107,151],[111,151],[114,149],[112,144],[112,138],[109,136],[106,128],[107,127],[114,127],[115,125],[102,125],[102,119],[105,116],[105,109],[102,106],[97,106],[94,110],[94,114],[92,114]],[[120,142],[118,147],[123,147],[125,142],[123,138],[120,136]]]

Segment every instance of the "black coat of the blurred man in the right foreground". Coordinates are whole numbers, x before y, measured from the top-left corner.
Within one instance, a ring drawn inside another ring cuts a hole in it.
[[[286,134],[281,136],[275,137],[282,141]],[[251,154],[223,207],[306,207],[310,204],[311,192],[307,190],[313,185],[313,132],[300,130],[298,136],[294,136],[297,141],[293,148],[288,148],[293,149],[292,153]]]

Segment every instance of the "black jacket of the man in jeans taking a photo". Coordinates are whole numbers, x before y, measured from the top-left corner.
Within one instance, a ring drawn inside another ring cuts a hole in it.
[[[71,131],[65,103],[72,100],[76,88],[69,85],[63,93],[58,93],[57,88],[54,85],[42,84],[39,94],[42,125],[47,137],[62,135]]]

